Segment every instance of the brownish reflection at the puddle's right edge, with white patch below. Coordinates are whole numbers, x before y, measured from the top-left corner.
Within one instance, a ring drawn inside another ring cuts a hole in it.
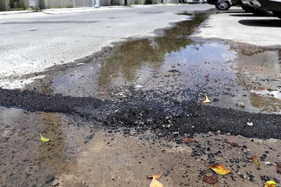
[[[251,105],[267,112],[280,112],[280,51],[239,50],[237,77],[250,91]]]

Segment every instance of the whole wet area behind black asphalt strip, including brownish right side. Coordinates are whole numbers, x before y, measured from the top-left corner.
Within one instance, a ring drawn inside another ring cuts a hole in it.
[[[115,101],[136,94],[133,91],[153,90],[148,94],[153,98],[160,95],[193,102],[203,101],[204,94],[208,94],[211,105],[249,112],[280,112],[278,108],[265,110],[265,102],[257,104],[258,100],[251,98],[262,93],[250,92],[260,87],[278,91],[280,52],[232,49],[222,42],[196,43],[189,39],[189,34],[208,15],[194,14],[193,20],[165,30],[163,37],[124,42],[111,58],[69,68],[52,77],[50,84],[41,83],[40,89]],[[237,107],[239,102],[246,107]]]

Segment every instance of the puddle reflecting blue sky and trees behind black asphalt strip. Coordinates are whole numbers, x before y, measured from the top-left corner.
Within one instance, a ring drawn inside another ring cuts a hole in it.
[[[182,79],[181,84],[187,83],[189,88],[205,85],[207,74],[215,75],[216,79],[234,79],[229,64],[236,53],[228,45],[196,44],[187,38],[208,14],[194,16],[194,20],[167,30],[164,37],[123,43],[117,49],[118,54],[100,64],[86,64],[64,72],[53,79],[53,93],[98,97],[116,86],[143,84],[144,89],[163,86],[160,82],[164,79],[167,84]],[[180,77],[175,77],[176,74]]]

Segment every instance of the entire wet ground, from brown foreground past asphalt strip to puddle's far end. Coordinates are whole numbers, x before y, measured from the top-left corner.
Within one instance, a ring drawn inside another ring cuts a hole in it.
[[[54,175],[59,186],[149,186],[145,176],[163,172],[165,186],[210,186],[202,175],[213,163],[233,170],[218,186],[280,180],[280,49],[189,37],[210,14],[51,67],[26,90],[1,89],[1,185]],[[249,157],[265,151],[257,170]]]

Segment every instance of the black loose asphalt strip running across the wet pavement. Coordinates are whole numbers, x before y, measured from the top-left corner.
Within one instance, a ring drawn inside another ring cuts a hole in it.
[[[150,91],[141,94],[147,95]],[[195,133],[230,133],[256,138],[281,139],[280,115],[249,113],[192,102],[178,102],[170,97],[164,102],[149,101],[136,95],[123,102],[101,101],[92,97],[45,95],[37,91],[0,89],[0,105],[29,111],[78,114],[101,122],[109,131],[120,127],[138,131],[151,129],[158,136],[174,132],[185,136]],[[169,108],[169,110],[166,110]],[[249,126],[247,122],[252,122]]]

